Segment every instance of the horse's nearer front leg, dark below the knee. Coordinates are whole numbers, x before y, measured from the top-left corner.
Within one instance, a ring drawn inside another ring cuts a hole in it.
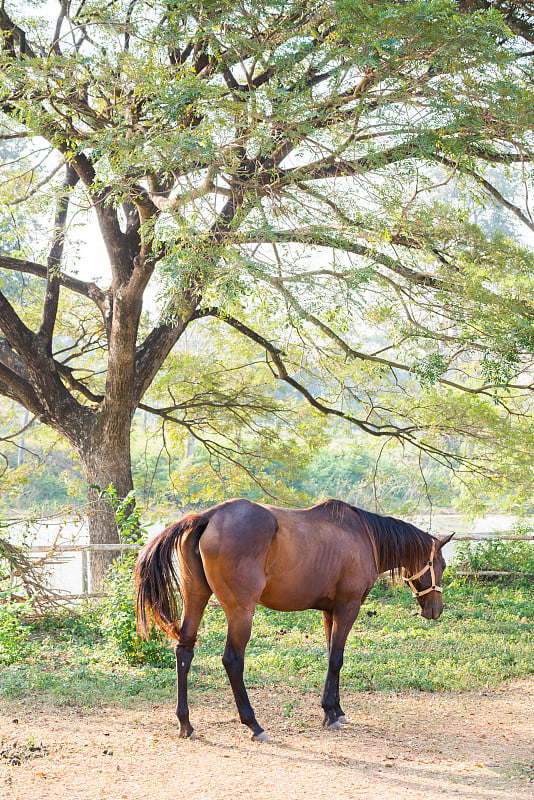
[[[324,711],[323,725],[330,730],[338,730],[345,723],[346,717],[340,705],[339,675],[343,666],[343,654],[347,636],[358,616],[360,603],[351,603],[324,612],[325,632],[328,644],[328,671],[324,684],[321,705]],[[328,633],[329,640],[328,640]]]

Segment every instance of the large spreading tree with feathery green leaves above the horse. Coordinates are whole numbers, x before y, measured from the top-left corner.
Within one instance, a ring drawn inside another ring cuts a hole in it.
[[[450,197],[534,230],[530,4],[52,5],[0,8],[3,138],[24,142],[26,178],[8,213],[28,204],[28,228],[54,209],[46,242],[21,234],[0,255],[43,287],[39,319],[0,293],[0,392],[76,451],[93,542],[116,535],[94,487],[131,491],[134,412],[193,323],[247,337],[318,411],[431,453],[464,458],[444,437],[526,413],[532,255]],[[107,282],[75,274],[80,208]],[[65,293],[80,297],[70,342]],[[84,369],[89,338],[103,378]]]

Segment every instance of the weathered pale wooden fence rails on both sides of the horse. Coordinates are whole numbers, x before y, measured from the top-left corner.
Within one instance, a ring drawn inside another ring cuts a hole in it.
[[[514,541],[514,542],[534,542],[534,534],[514,534],[514,533],[458,533],[454,536],[455,542],[482,542],[482,541]],[[139,550],[140,544],[119,543],[117,544],[62,544],[62,545],[34,545],[29,547],[30,553],[81,553],[81,594],[62,595],[65,600],[87,600],[93,597],[102,597],[100,592],[89,591],[89,559],[88,553],[121,553]],[[499,572],[497,570],[479,570],[478,572],[459,572],[460,575],[480,575],[484,577],[498,577],[515,573]]]

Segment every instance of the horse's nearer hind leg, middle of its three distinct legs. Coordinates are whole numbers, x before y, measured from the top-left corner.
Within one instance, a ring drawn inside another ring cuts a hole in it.
[[[245,650],[252,631],[253,615],[254,608],[248,611],[232,610],[227,613],[228,635],[222,662],[226,669],[230,686],[232,687],[237,710],[239,712],[239,719],[243,725],[247,725],[247,727],[250,728],[252,731],[252,738],[256,742],[266,742],[269,741],[269,737],[261,725],[258,724],[243,680]]]

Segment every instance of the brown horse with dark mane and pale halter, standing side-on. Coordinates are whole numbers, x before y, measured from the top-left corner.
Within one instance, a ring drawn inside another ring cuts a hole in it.
[[[268,737],[256,720],[243,682],[245,648],[256,606],[323,612],[328,648],[323,725],[336,729],[346,721],[339,704],[345,642],[378,575],[387,571],[392,577],[403,575],[421,614],[437,619],[443,610],[441,548],[450,538],[436,539],[406,522],[338,500],[304,510],[229,500],[170,525],[139,553],[136,612],[145,634],[151,618],[177,640],[180,736],[193,734],[187,675],[212,594],[228,622],[222,661],[239,716],[258,741]],[[176,590],[182,598],[179,624]]]

